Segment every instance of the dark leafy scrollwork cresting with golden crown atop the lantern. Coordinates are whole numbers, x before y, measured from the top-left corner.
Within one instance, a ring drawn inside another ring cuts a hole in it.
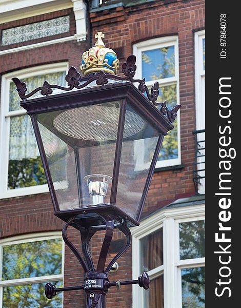
[[[167,107],[167,102],[157,102],[159,95],[159,84],[158,81],[154,83],[151,89],[145,84],[145,78],[134,79],[136,73],[136,56],[131,54],[127,57],[126,62],[122,65],[122,76],[116,75],[117,69],[119,67],[119,60],[117,59],[116,53],[109,48],[105,47],[102,38],[105,37],[105,34],[102,32],[97,32],[95,38],[97,42],[94,47],[85,51],[82,55],[82,65],[81,71],[84,76],[93,74],[90,78],[83,78],[81,74],[76,70],[75,67],[71,66],[65,80],[67,81],[67,87],[49,84],[47,81],[44,82],[42,87],[38,87],[32,90],[30,93],[27,93],[27,85],[24,81],[19,80],[18,78],[12,78],[12,81],[16,85],[16,90],[19,97],[24,101],[38,91],[41,95],[51,95],[53,93],[52,89],[59,89],[62,91],[70,91],[72,89],[84,89],[89,84],[92,84],[94,81],[98,86],[105,86],[108,84],[109,80],[114,81],[129,81],[131,84],[139,84],[138,90],[141,93],[146,93],[146,97],[154,106],[160,106],[159,112],[161,112],[164,117],[169,122],[174,122],[177,116],[177,111],[181,107],[176,105],[169,110]]]

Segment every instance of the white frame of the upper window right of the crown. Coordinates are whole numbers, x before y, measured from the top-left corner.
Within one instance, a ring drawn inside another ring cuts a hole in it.
[[[142,79],[142,52],[157,48],[174,46],[175,53],[175,76],[165,79],[159,79],[159,86],[176,85],[176,103],[179,104],[179,53],[178,53],[178,36],[165,36],[153,38],[152,40],[140,42],[133,45],[133,53],[136,55],[136,78]],[[152,86],[154,81],[146,82],[148,87]],[[178,112],[177,121],[177,144],[178,144],[178,157],[175,159],[167,159],[163,161],[157,161],[156,168],[162,168],[167,166],[176,166],[181,164],[181,150],[180,150],[180,114]]]

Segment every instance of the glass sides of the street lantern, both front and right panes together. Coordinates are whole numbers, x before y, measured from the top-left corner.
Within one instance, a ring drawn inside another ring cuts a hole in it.
[[[109,204],[136,219],[160,131],[128,102],[118,179],[112,179],[123,100],[37,114],[59,210]],[[58,210],[58,209],[57,209]]]

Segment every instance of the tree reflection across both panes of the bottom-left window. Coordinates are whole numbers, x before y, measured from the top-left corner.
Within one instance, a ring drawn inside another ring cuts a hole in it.
[[[9,245],[3,248],[2,280],[61,274],[62,241],[59,239]],[[61,282],[55,282],[61,286]],[[58,308],[62,296],[49,301],[44,294],[45,283],[4,287],[3,308]]]

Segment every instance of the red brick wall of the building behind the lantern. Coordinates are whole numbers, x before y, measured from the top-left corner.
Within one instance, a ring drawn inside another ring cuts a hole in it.
[[[193,32],[204,28],[205,1],[170,2],[170,4],[167,4],[167,1],[155,1],[129,8],[118,7],[94,12],[90,15],[92,37],[97,31],[103,31],[106,35],[106,46],[114,50],[122,49],[124,57],[132,53],[132,45],[136,42],[165,35],[178,35],[179,38],[179,86],[180,104],[182,105],[180,126],[182,164],[184,167],[176,170],[155,172],[144,208],[144,216],[177,198],[195,194],[192,181],[194,162],[192,131],[195,129]],[[65,13],[69,13],[69,10],[0,25],[0,28],[4,29],[24,23],[37,22],[61,16]],[[74,32],[73,12],[71,16],[72,35]],[[77,43],[76,41],[71,41],[1,55],[0,74],[30,66],[62,61],[68,61],[70,66],[73,65],[78,69],[81,63],[81,55],[86,48],[86,42]],[[123,61],[123,58],[121,60]],[[34,209],[33,213],[31,208]],[[59,230],[61,227],[62,223],[54,218],[52,214],[52,204],[48,194],[0,200],[0,237]],[[69,234],[70,238],[80,248],[78,232],[71,228]],[[99,235],[92,241],[95,261],[97,261],[96,258],[101,247],[101,237],[102,235]],[[119,235],[115,237],[118,238]],[[82,284],[84,278],[82,268],[68,247],[65,249],[65,260],[65,285]],[[119,269],[116,273],[110,274],[110,280],[131,279],[131,249],[118,260],[118,263]],[[123,286],[120,291],[113,288],[107,294],[108,307],[131,308],[131,303],[130,286]],[[66,292],[64,306],[65,308],[84,307],[83,291]]]

